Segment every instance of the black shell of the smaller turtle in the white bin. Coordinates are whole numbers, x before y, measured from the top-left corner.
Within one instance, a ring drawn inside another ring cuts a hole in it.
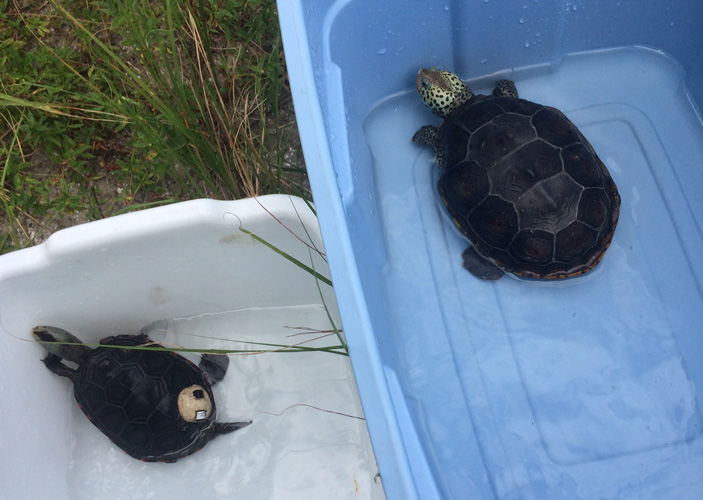
[[[161,347],[144,335],[107,337],[100,344]],[[194,385],[207,392],[212,406],[207,418],[188,422],[181,417],[178,397]],[[210,383],[196,365],[174,352],[97,347],[76,370],[74,395],[93,424],[145,462],[176,461],[213,437],[216,412]]]

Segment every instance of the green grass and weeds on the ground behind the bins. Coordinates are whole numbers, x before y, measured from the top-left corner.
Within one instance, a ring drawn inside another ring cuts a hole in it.
[[[0,0],[0,253],[198,197],[308,196],[273,0]]]

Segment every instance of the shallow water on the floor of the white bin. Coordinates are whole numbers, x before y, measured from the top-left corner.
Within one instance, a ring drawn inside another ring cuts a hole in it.
[[[176,319],[148,335],[165,346],[271,349],[246,342],[291,345],[321,335],[309,329],[329,328],[323,307],[312,305]],[[306,345],[335,344],[332,336]],[[184,355],[198,362],[197,354]],[[69,497],[383,498],[365,422],[351,417],[363,415],[346,356],[232,355],[213,391],[218,421],[253,423],[172,464],[129,457],[74,404]]]

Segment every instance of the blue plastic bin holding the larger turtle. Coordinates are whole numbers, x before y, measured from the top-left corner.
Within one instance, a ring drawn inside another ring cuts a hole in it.
[[[703,498],[703,3],[280,0],[305,159],[390,499]],[[481,282],[421,67],[560,108],[622,196],[602,263]]]

